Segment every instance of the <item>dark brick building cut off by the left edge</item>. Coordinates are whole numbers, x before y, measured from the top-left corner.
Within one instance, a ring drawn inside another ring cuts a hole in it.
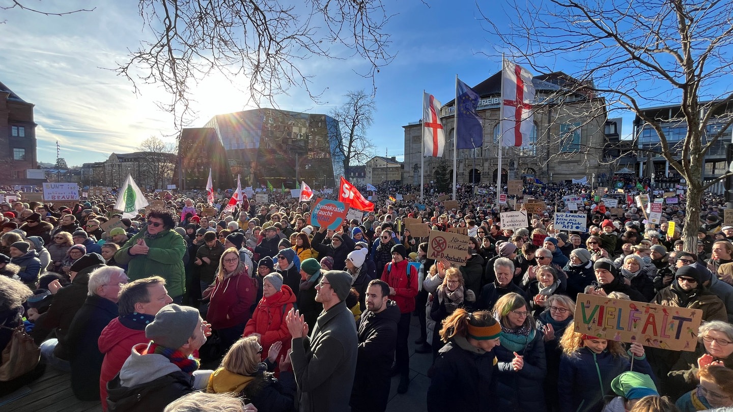
[[[0,180],[5,185],[40,185],[45,177],[32,179],[38,169],[36,123],[32,103],[0,83]]]

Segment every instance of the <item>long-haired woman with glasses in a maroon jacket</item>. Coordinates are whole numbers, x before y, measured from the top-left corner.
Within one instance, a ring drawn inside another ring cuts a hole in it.
[[[257,296],[257,280],[251,278],[236,248],[224,251],[219,260],[214,290],[206,319],[217,331],[224,347],[242,336],[251,319],[251,306]]]

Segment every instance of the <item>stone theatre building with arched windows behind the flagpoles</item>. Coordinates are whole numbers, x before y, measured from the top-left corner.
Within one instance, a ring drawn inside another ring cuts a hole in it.
[[[502,147],[501,181],[534,177],[559,182],[608,174],[603,148],[605,100],[583,88],[583,84],[564,73],[535,76],[534,130],[523,147]],[[498,141],[501,108],[501,72],[473,88],[481,97],[478,114],[482,121],[483,145],[454,152],[454,102],[441,108],[446,133],[442,158],[422,158],[421,121],[405,129],[405,183],[435,180],[438,165],[446,163],[452,179],[453,159],[457,163],[457,183],[491,184],[498,174]],[[424,161],[424,166],[422,165]]]

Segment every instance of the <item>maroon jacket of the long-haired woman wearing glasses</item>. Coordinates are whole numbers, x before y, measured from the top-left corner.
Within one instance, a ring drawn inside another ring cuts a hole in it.
[[[240,265],[240,269],[241,272],[223,281],[216,279],[206,314],[206,320],[214,329],[231,328],[251,317],[249,311],[257,298],[257,280],[247,276],[244,265]]]

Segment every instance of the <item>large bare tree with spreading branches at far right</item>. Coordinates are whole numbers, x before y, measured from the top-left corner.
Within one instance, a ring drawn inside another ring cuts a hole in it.
[[[514,3],[509,29],[499,29],[484,15],[489,32],[498,35],[509,57],[540,72],[548,65],[575,62],[582,87],[604,95],[610,110],[631,111],[652,127],[658,144],[650,151],[669,162],[688,185],[685,250],[693,251],[699,227],[701,196],[727,177],[702,181],[704,157],[733,124],[730,111],[733,65],[733,3],[730,1],[579,1]],[[492,13],[493,16],[496,12]],[[502,20],[504,21],[504,20]],[[679,102],[671,117],[660,118],[644,106]],[[666,136],[663,125],[679,122],[682,141]],[[711,130],[710,125],[717,126]],[[634,136],[638,139],[638,136]],[[636,141],[635,141],[636,143]]]

